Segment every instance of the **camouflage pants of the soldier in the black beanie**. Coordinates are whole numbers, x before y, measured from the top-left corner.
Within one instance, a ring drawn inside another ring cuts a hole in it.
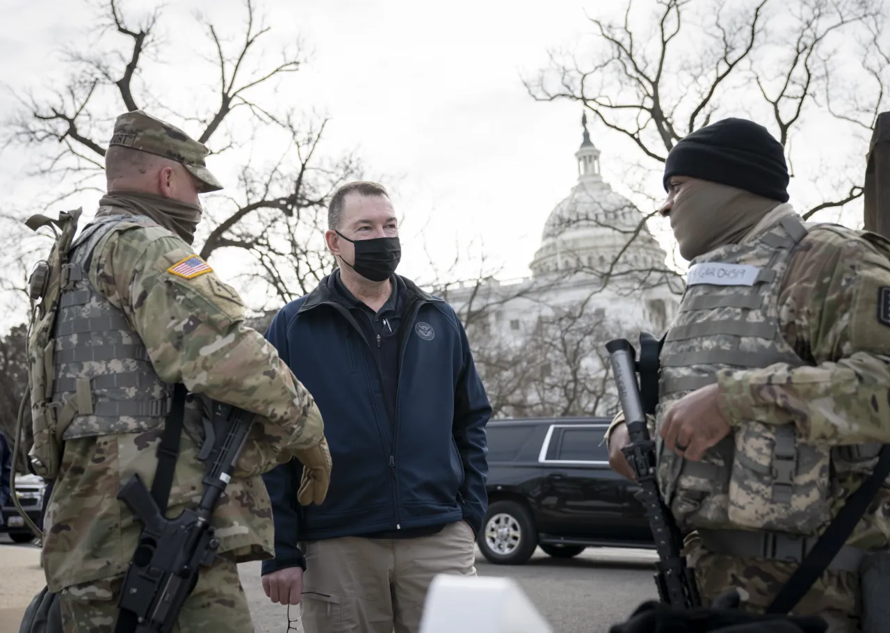
[[[765,613],[797,564],[755,558],[724,556],[694,546],[688,564],[695,568],[701,601],[710,604],[730,588],[739,588],[741,608]],[[827,633],[859,633],[859,576],[827,570],[797,603],[795,615],[819,615],[828,622]]]

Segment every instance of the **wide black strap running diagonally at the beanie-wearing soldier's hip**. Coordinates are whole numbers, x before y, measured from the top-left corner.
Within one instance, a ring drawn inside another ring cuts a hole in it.
[[[872,499],[878,494],[881,483],[890,475],[890,444],[885,444],[881,449],[878,464],[875,465],[869,478],[854,491],[844,507],[837,513],[834,521],[828,526],[821,538],[816,541],[813,549],[791,574],[788,582],[781,588],[779,595],[773,600],[766,613],[789,613],[806,592],[813,587],[813,583],[819,580],[831,560],[844,546],[844,543],[853,533],[856,523],[865,514]]]

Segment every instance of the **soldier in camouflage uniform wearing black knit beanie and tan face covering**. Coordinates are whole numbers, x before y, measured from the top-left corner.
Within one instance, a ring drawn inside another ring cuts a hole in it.
[[[763,612],[890,442],[890,242],[804,223],[779,142],[750,121],[689,134],[661,208],[691,260],[659,356],[659,487],[705,604]],[[622,416],[610,463],[633,477]],[[794,613],[856,631],[863,560],[890,539],[885,482]]]

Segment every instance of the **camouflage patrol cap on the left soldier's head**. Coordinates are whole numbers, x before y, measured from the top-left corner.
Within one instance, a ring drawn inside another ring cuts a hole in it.
[[[203,143],[142,110],[125,112],[117,117],[109,145],[147,151],[182,163],[204,185],[201,189],[203,193],[223,189],[222,183],[216,180],[204,163],[204,157],[210,150]]]

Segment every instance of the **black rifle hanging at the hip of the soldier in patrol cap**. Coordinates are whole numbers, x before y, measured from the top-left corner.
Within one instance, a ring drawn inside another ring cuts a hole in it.
[[[213,563],[219,540],[210,524],[238,461],[254,414],[214,403],[214,424],[205,424],[206,441],[198,459],[209,460],[197,508],[168,519],[160,512],[139,475],[117,494],[142,524],[142,534],[126,572],[117,605],[135,616],[136,633],[168,633],[182,604],[198,582],[198,568]]]

